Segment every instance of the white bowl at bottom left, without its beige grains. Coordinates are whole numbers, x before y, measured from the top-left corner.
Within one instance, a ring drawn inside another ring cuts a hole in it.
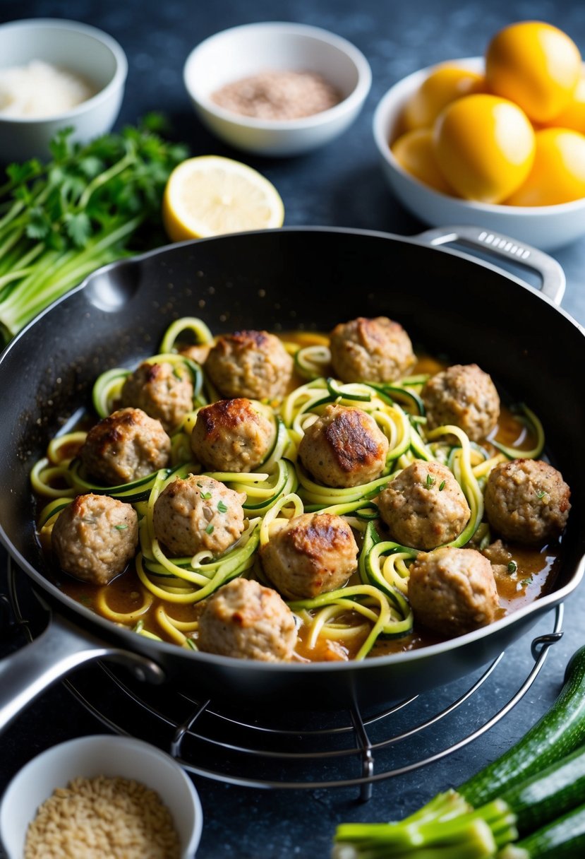
[[[8,859],[22,859],[28,825],[57,787],[76,777],[122,777],[154,789],[171,811],[181,859],[192,859],[202,834],[201,802],[173,758],[143,740],[110,734],[80,737],[37,755],[12,779],[0,806],[0,842]]]

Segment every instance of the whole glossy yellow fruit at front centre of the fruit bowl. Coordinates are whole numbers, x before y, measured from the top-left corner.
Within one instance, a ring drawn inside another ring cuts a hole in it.
[[[526,114],[497,95],[452,101],[433,127],[437,163],[461,197],[501,203],[528,176],[534,129]]]

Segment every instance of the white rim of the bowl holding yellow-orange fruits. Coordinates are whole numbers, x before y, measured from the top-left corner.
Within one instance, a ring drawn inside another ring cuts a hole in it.
[[[507,206],[503,204],[479,203],[475,200],[466,200],[461,197],[451,197],[449,194],[443,194],[435,188],[425,185],[424,182],[418,180],[401,166],[400,162],[396,160],[394,153],[390,149],[389,141],[386,137],[386,118],[389,113],[389,106],[393,105],[402,94],[407,94],[412,90],[413,81],[417,78],[420,78],[422,81],[429,72],[437,69],[437,67],[441,65],[462,65],[474,71],[483,71],[484,58],[461,57],[449,59],[444,62],[433,63],[432,65],[426,66],[425,69],[413,71],[410,75],[401,78],[400,81],[397,81],[389,88],[386,94],[384,94],[382,99],[378,102],[377,108],[374,111],[373,131],[377,148],[396,173],[401,174],[401,176],[403,176],[404,179],[413,186],[425,188],[425,191],[431,194],[431,196],[437,199],[447,199],[455,204],[461,204],[468,210],[476,211],[478,216],[481,216],[483,213],[487,213],[492,215],[510,216],[510,218],[514,216],[541,218],[546,215],[554,215],[558,212],[566,212],[569,214],[571,210],[582,210],[585,205],[585,198],[571,200],[569,203],[558,203],[549,206]],[[585,63],[583,64],[583,70],[585,71]]]

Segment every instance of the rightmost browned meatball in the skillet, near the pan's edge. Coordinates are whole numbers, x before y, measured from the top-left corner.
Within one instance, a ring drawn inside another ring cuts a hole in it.
[[[567,524],[570,488],[542,460],[509,460],[495,466],[485,484],[485,515],[504,539],[544,545]]]

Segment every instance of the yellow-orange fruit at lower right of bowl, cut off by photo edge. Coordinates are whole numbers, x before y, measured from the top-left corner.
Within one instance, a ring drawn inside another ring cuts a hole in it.
[[[533,168],[506,203],[551,206],[585,197],[585,135],[568,128],[536,132]]]

